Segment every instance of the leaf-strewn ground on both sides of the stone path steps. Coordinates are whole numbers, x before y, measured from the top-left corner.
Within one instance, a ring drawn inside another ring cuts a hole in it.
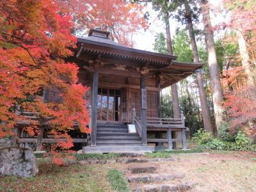
[[[184,179],[168,182],[194,183],[191,191],[256,191],[256,153],[215,151],[171,157],[173,161],[143,164],[156,166],[157,173],[185,173]],[[108,170],[117,168],[127,177],[127,168],[135,164],[56,167],[40,160],[39,165],[36,177],[0,177],[0,191],[112,191]]]

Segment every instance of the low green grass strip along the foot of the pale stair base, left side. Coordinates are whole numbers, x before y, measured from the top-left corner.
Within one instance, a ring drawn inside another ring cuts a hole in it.
[[[109,153],[109,154],[74,154],[78,161],[87,159],[116,159],[120,157],[119,154]]]

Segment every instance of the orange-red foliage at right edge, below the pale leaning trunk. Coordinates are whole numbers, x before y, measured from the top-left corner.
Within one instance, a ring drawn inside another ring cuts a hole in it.
[[[234,131],[236,126],[242,127],[251,122],[251,136],[256,136],[256,90],[246,86],[246,74],[243,67],[233,67],[225,71],[223,87],[224,108],[232,130]]]

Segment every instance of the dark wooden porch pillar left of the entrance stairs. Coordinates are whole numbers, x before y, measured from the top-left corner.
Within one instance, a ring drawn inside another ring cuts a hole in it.
[[[99,71],[94,68],[93,84],[92,84],[92,132],[91,132],[91,146],[96,146],[97,134],[97,97],[98,97]]]

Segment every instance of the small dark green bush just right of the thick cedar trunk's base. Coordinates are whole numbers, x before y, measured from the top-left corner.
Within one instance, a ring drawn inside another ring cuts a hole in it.
[[[218,131],[218,136],[223,141],[235,141],[237,132],[238,132],[237,129],[236,129],[235,132],[230,132],[230,123],[229,122],[223,122],[220,126],[219,131]]]

